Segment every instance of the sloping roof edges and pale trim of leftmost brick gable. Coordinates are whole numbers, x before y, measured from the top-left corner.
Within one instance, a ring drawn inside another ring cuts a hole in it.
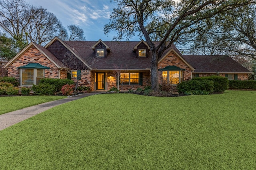
[[[41,45],[38,45],[36,43],[30,43],[25,47],[20,53],[18,53],[14,58],[12,58],[8,63],[6,63],[3,68],[8,67],[10,64],[12,64],[16,59],[18,59],[21,55],[23,55],[30,47],[36,47],[45,57],[47,57],[52,63],[54,63],[58,68],[64,67],[64,65],[52,54],[48,49],[42,47]]]

